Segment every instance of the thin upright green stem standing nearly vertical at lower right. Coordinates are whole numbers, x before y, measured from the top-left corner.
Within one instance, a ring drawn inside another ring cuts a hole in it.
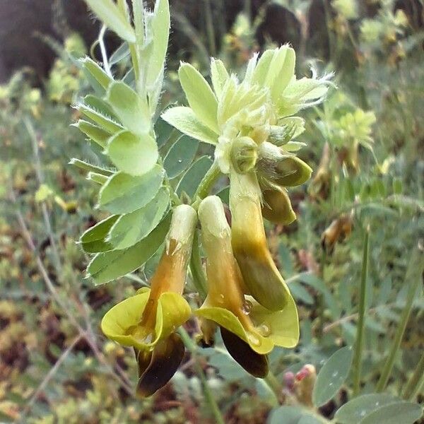
[[[360,375],[364,343],[365,299],[367,295],[368,258],[370,252],[370,228],[365,230],[363,266],[360,276],[359,317],[356,329],[355,352],[353,354],[353,396],[358,396],[360,390]]]

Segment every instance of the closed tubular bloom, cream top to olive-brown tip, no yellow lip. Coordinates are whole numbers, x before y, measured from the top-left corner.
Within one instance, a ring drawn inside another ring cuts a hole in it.
[[[261,190],[253,172],[230,176],[232,249],[248,293],[269,310],[281,310],[291,298],[266,243]]]

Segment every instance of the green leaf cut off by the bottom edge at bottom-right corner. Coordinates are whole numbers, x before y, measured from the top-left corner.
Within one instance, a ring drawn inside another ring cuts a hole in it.
[[[396,402],[372,411],[360,424],[413,424],[423,416],[423,408],[412,402]]]

